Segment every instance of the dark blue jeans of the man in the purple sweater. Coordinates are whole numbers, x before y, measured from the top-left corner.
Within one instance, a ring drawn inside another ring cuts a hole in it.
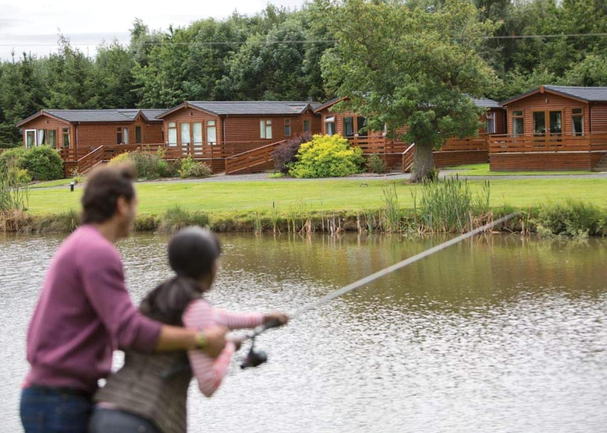
[[[84,392],[30,386],[21,392],[19,412],[25,433],[86,433],[92,407]]]

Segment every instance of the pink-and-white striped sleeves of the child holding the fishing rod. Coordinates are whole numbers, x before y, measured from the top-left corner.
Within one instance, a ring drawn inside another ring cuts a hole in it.
[[[234,314],[223,310],[215,310],[205,300],[193,301],[185,310],[183,326],[188,328],[205,329],[215,324],[231,327],[252,327],[262,323],[263,315]],[[192,371],[198,381],[200,392],[211,397],[222,383],[228,372],[228,367],[236,347],[228,342],[217,358],[211,358],[200,351],[188,351]]]

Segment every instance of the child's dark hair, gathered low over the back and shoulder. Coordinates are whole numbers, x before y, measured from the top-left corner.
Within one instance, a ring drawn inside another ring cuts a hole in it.
[[[183,310],[208,289],[201,287],[197,280],[211,272],[221,254],[221,246],[209,230],[187,227],[175,233],[168,249],[169,264],[177,275],[152,290],[141,301],[140,310],[154,320],[183,326]]]

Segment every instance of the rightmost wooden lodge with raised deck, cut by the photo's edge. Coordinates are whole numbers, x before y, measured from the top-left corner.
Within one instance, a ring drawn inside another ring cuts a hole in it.
[[[607,87],[540,86],[501,105],[507,133],[489,139],[491,170],[607,169]]]

